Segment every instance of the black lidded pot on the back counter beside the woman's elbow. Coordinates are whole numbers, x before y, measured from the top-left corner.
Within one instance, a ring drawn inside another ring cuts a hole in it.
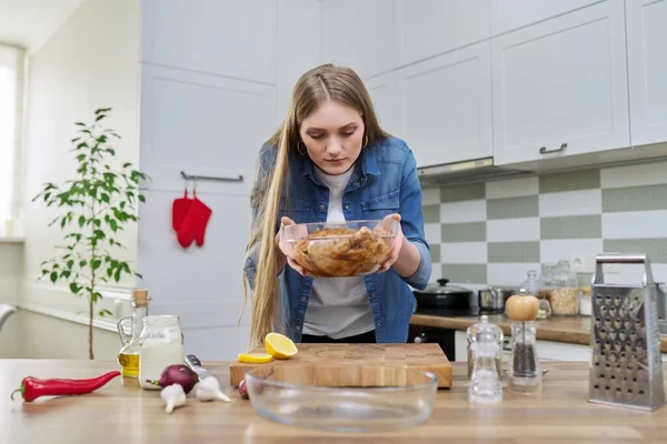
[[[417,300],[416,313],[442,316],[477,316],[477,293],[458,285],[448,285],[448,279],[439,279],[424,290],[414,290]]]

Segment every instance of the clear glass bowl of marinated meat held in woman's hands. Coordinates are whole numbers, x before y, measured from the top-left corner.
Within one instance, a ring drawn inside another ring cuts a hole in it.
[[[362,276],[391,254],[398,221],[315,222],[283,226],[295,262],[316,278]]]

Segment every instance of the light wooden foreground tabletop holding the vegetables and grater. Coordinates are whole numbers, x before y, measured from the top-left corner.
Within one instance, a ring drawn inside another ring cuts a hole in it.
[[[265,420],[236,391],[231,403],[201,403],[167,415],[159,392],[143,391],[137,380],[116,379],[94,393],[10,401],[22,377],[91,377],[116,369],[111,361],[0,360],[0,430],[2,443],[525,443],[658,442],[667,436],[667,407],[656,412],[587,402],[586,363],[545,363],[544,393],[504,393],[499,405],[467,401],[467,366],[454,363],[454,386],[439,391],[431,417],[399,432],[330,433],[297,428]],[[229,363],[206,363],[226,384]],[[667,364],[665,364],[667,375]],[[227,385],[227,384],[226,384]],[[545,440],[548,436],[548,440]]]

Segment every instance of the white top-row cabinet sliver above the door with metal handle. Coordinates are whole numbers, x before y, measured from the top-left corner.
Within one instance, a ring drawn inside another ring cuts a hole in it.
[[[537,23],[600,1],[603,0],[490,0],[491,36]]]

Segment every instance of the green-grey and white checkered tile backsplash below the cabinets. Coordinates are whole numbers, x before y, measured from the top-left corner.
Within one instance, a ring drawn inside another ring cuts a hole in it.
[[[516,285],[528,270],[646,252],[667,281],[667,162],[424,190],[431,281]]]

